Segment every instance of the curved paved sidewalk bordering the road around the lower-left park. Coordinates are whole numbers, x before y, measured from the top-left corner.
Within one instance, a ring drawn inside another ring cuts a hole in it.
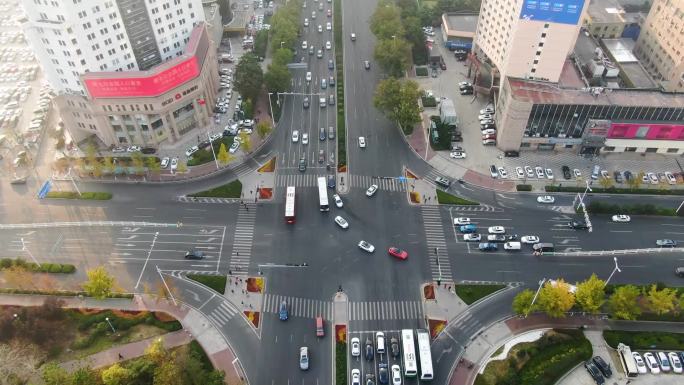
[[[14,295],[0,294],[0,304],[11,306],[41,306],[46,295]],[[202,346],[214,368],[225,373],[226,383],[240,384],[246,378],[244,370],[235,356],[230,344],[211,324],[207,317],[199,311],[179,303],[173,305],[167,300],[157,300],[150,295],[135,295],[133,299],[108,298],[97,300],[94,298],[60,297],[66,308],[95,308],[95,309],[120,309],[134,311],[161,311],[170,314],[183,325],[189,333]],[[117,361],[118,361],[118,357]]]

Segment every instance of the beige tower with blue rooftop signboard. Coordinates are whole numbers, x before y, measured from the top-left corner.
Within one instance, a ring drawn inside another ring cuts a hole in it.
[[[557,82],[575,46],[586,3],[482,0],[475,53],[491,60],[502,81],[512,76]]]

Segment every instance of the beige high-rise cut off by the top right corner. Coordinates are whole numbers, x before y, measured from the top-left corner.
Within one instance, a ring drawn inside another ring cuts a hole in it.
[[[684,91],[684,0],[655,0],[634,47],[666,91]]]

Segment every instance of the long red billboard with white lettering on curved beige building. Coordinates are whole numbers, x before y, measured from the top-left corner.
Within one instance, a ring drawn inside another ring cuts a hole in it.
[[[197,58],[193,56],[171,68],[148,76],[88,78],[86,75],[84,81],[92,98],[154,97],[194,79],[199,73]]]

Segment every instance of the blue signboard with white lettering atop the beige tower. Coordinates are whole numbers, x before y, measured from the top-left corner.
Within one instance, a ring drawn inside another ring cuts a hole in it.
[[[577,24],[586,0],[524,0],[520,18],[548,23]]]

